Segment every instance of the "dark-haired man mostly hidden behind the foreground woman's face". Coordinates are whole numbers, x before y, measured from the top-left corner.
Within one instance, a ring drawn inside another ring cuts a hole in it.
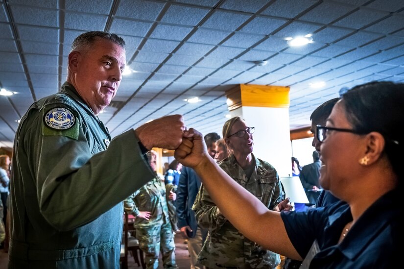
[[[334,105],[336,104],[336,102],[339,99],[340,99],[339,97],[336,97],[336,98],[330,99],[328,101],[325,101],[320,106],[318,106],[316,109],[314,109],[314,111],[310,115],[310,121],[311,121],[310,131],[314,135],[311,145],[319,153],[320,153],[321,142],[318,141],[318,139],[317,139],[316,126],[317,125],[324,126],[326,124],[328,116],[331,114],[331,111],[333,110]],[[324,206],[333,204],[338,201],[339,201],[339,199],[337,197],[333,196],[333,194],[330,193],[328,190],[323,190],[320,192],[320,195],[318,196],[318,198],[316,200],[315,207],[324,207]]]

